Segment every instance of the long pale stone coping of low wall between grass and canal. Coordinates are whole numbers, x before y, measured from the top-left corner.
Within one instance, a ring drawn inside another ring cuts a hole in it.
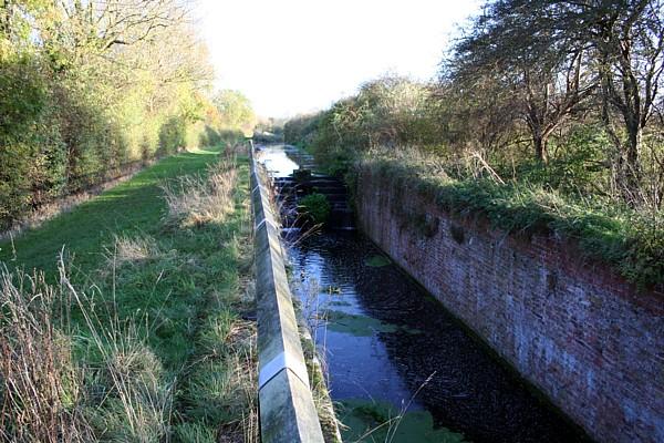
[[[260,433],[264,443],[323,443],[266,172],[251,162]]]

